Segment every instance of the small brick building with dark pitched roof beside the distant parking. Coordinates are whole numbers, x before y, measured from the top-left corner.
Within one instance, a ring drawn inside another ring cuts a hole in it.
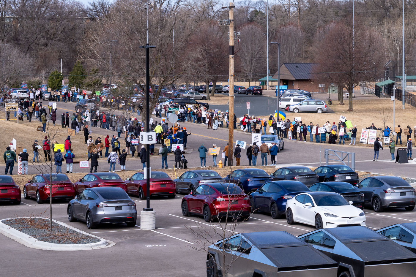
[[[313,70],[316,63],[285,63],[280,67],[280,85],[287,89],[303,89],[308,92],[320,92],[318,82],[314,81]],[[272,77],[277,79],[277,72]]]

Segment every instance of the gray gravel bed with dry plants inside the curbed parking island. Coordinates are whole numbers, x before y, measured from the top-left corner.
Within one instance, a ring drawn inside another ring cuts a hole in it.
[[[100,241],[96,237],[82,234],[54,222],[52,222],[51,231],[50,220],[47,218],[14,218],[2,220],[2,223],[44,242],[83,244]]]

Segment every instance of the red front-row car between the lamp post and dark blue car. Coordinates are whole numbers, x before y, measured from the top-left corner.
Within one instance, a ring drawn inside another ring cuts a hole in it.
[[[206,183],[186,195],[181,204],[183,216],[203,215],[206,222],[228,216],[248,220],[250,198],[233,183]]]

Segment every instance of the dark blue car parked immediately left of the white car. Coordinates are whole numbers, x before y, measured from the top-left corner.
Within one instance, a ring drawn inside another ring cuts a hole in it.
[[[274,219],[280,218],[286,213],[286,200],[304,192],[309,192],[308,188],[298,181],[267,182],[250,193],[251,211],[266,212]]]

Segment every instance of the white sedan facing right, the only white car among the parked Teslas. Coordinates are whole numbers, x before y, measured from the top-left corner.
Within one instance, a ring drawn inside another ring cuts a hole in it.
[[[317,229],[365,226],[364,212],[333,192],[300,193],[286,202],[286,220],[314,225]]]

